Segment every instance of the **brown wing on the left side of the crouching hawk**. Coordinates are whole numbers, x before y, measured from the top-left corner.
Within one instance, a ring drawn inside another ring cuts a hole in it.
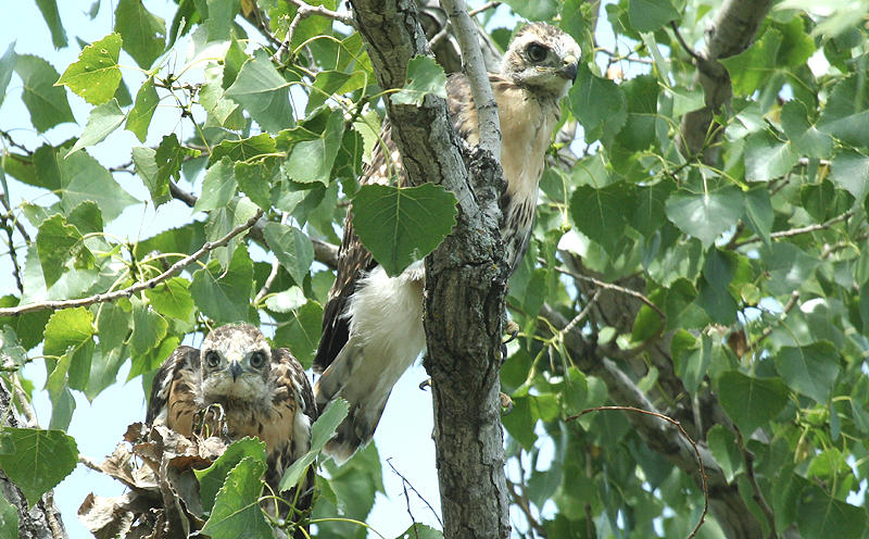
[[[151,385],[146,423],[165,424],[190,436],[200,385],[199,350],[178,347],[161,365]]]

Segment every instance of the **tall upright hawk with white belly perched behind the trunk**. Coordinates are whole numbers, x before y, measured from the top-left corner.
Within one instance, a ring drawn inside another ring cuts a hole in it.
[[[501,120],[501,164],[506,186],[501,197],[504,245],[511,273],[528,249],[538,183],[559,101],[577,76],[579,46],[561,29],[534,23],[516,33],[504,54],[501,73],[490,73]],[[446,82],[448,105],[458,134],[479,142],[477,111],[465,75]],[[361,185],[388,184],[389,170],[404,181],[399,152],[383,128],[386,148],[377,148]],[[391,164],[387,163],[391,158]],[[421,262],[389,277],[353,233],[352,214],[344,222],[338,275],[323,315],[323,337],[314,360],[322,376],[314,386],[323,409],[336,397],[350,403],[350,414],[326,451],[343,462],[374,435],[387,398],[399,377],[423,351]]]

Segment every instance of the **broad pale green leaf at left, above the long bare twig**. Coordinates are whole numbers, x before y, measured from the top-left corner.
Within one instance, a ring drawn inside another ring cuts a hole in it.
[[[74,210],[92,200],[102,211],[105,222],[114,221],[125,208],[138,202],[121,188],[112,174],[86,152],[59,159],[61,173],[61,206]]]

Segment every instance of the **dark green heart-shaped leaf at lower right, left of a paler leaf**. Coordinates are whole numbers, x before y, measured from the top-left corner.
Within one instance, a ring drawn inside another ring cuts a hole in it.
[[[748,437],[782,411],[788,403],[788,387],[778,378],[754,378],[729,371],[718,379],[718,399]]]

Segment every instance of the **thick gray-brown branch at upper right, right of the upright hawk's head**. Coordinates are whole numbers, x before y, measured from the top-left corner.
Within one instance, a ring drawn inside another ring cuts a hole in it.
[[[705,162],[717,160],[718,149],[709,148],[713,117],[733,97],[730,75],[718,61],[744,51],[769,13],[772,0],[727,0],[718,9],[706,30],[706,47],[697,52],[697,82],[703,87],[705,106],[682,117],[682,151],[688,155],[703,152]]]

